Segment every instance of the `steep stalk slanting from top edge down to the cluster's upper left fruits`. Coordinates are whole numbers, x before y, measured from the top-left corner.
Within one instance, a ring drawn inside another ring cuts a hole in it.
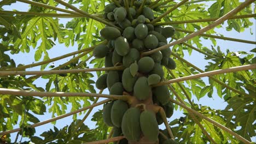
[[[89,14],[89,13],[86,13],[85,11],[83,11],[83,10],[81,10],[81,9],[78,9],[77,7],[75,7],[75,6],[72,5],[72,4],[69,4],[69,3],[65,2],[65,1],[62,1],[62,0],[55,0],[55,1],[56,1],[56,2],[59,2],[60,4],[64,5],[65,7],[68,7],[69,9],[72,9],[72,10],[74,10],[74,11],[77,11],[78,13],[80,13],[80,14],[86,16],[86,17],[89,17],[89,18],[91,18],[91,19],[93,19],[93,20],[96,20],[96,21],[98,21],[98,22],[104,23],[105,25],[115,27],[115,28],[119,29],[120,31],[122,31],[122,29],[121,29],[120,27],[117,27],[117,26],[113,25],[112,23],[110,23],[110,22],[108,22],[108,21],[106,21],[106,20],[104,20],[104,19],[101,19],[100,17],[96,17],[96,16],[94,16],[94,15],[91,15],[91,14]]]

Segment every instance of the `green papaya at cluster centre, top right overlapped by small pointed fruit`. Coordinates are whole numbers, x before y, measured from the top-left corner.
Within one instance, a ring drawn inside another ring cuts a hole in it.
[[[138,77],[137,76],[132,76],[130,73],[130,68],[126,68],[124,70],[124,73],[122,75],[122,83],[123,87],[126,92],[132,92],[133,87],[135,85],[135,82],[137,81]]]

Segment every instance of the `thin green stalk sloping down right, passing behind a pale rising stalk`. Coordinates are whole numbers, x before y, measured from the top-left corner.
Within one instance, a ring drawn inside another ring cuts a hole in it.
[[[203,71],[203,70],[201,70],[200,68],[196,67],[195,65],[189,63],[189,62],[186,61],[184,58],[179,57],[179,56],[176,55],[175,53],[172,52],[172,55],[173,55],[174,57],[177,57],[177,58],[178,58],[179,60],[181,60],[182,62],[188,64],[190,67],[196,69],[196,70],[199,71],[200,73],[205,73],[205,71]],[[254,66],[254,67],[255,67],[255,66]],[[255,68],[254,68],[254,69],[255,69]],[[210,79],[212,79],[213,81],[219,83],[220,85],[222,85],[222,86],[225,87],[225,88],[230,89],[231,91],[234,91],[234,92],[236,92],[236,93],[238,93],[238,94],[241,94],[241,95],[246,95],[246,96],[248,96],[248,97],[251,97],[249,94],[244,93],[244,92],[241,92],[241,91],[238,91],[237,89],[232,88],[232,87],[226,85],[226,83],[219,81],[218,79],[214,78],[213,76],[209,76],[209,77],[210,77]]]

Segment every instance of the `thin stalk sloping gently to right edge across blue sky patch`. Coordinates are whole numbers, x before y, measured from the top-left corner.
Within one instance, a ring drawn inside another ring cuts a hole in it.
[[[179,31],[179,32],[184,32],[184,33],[194,33],[193,31],[188,31],[188,30],[184,30],[184,29],[181,29],[181,28],[175,28],[175,30]],[[204,37],[209,37],[209,38],[237,41],[237,42],[247,43],[247,44],[256,44],[256,41],[250,41],[250,40],[235,39],[235,38],[229,38],[229,37],[220,37],[218,35],[203,34],[203,33],[199,34],[199,35],[202,35]]]

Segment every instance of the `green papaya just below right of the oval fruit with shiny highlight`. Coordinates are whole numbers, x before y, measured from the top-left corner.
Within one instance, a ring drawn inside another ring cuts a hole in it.
[[[131,49],[127,55],[123,57],[123,65],[125,68],[130,67],[132,63],[139,60],[139,51]]]

